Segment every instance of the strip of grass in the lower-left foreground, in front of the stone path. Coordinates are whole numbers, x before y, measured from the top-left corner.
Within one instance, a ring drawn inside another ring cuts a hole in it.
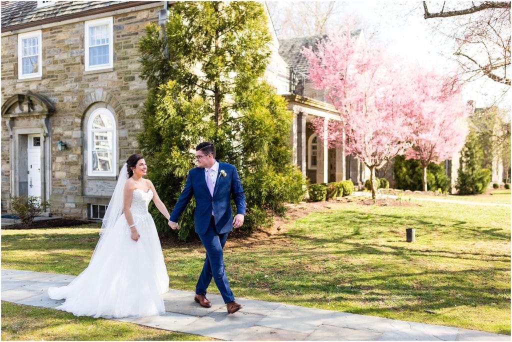
[[[2,340],[211,340],[53,309],[2,302]]]

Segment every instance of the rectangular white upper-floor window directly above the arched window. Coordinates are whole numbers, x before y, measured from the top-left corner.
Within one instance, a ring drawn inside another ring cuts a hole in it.
[[[86,22],[85,30],[86,71],[112,68],[112,18]]]

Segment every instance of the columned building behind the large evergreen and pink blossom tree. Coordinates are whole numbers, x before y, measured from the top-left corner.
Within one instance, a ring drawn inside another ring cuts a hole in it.
[[[361,46],[366,46],[362,31],[356,33]],[[345,156],[345,146],[328,148],[327,140],[320,141],[309,123],[322,117],[327,130],[329,120],[339,121],[334,106],[327,102],[324,91],[314,89],[308,77],[308,61],[302,54],[304,48],[314,47],[325,35],[292,38],[279,41],[279,54],[288,64],[288,108],[293,111],[292,127],[293,162],[300,166],[311,183],[339,182],[350,179],[356,186],[363,186],[370,178],[370,170],[354,156]]]

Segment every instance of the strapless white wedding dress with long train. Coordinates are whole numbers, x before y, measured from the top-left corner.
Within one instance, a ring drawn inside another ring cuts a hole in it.
[[[76,316],[145,317],[165,313],[162,294],[169,277],[162,247],[147,206],[150,190],[133,191],[131,211],[139,241],[131,239],[124,214],[101,236],[89,266],[68,286],[52,287],[48,295],[66,301],[57,307]]]

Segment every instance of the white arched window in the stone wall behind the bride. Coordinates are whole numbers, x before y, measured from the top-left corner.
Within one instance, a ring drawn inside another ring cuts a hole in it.
[[[105,108],[91,113],[87,123],[89,176],[116,176],[116,120]]]

